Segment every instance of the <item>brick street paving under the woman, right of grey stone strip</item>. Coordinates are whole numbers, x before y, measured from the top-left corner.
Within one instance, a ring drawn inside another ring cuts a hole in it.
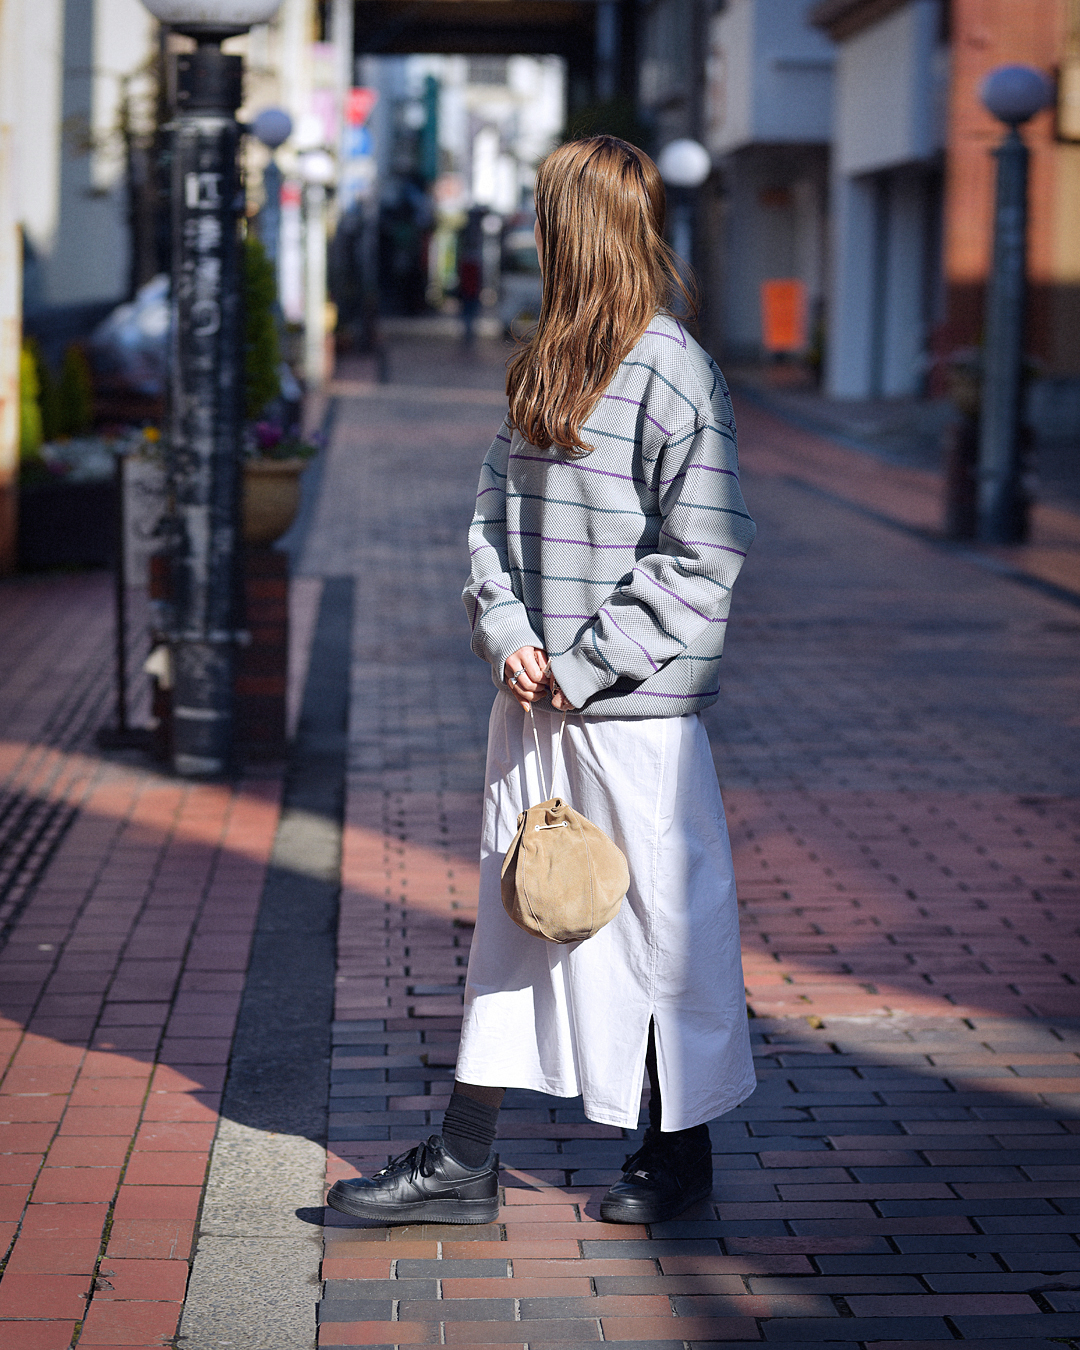
[[[358,585],[328,1181],[446,1104],[493,693],[458,589],[497,400],[448,348],[392,355],[389,387],[340,386],[304,562]],[[819,437],[742,425],[761,532],[707,721],[761,1083],[713,1126],[713,1200],[598,1222],[633,1137],[512,1091],[498,1223],[327,1211],[320,1345],[1080,1332],[1080,624],[872,518],[903,483],[845,506],[850,478],[883,486],[856,452],[815,481]]]

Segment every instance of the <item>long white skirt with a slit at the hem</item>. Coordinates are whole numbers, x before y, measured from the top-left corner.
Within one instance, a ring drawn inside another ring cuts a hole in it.
[[[544,779],[562,717],[537,711]],[[634,1129],[656,1026],[663,1130],[730,1111],[755,1088],[732,850],[701,717],[568,717],[552,794],[626,855],[618,917],[560,946],[502,909],[502,857],[544,801],[529,717],[491,709],[477,932],[458,1079],[585,1098],[585,1114]]]

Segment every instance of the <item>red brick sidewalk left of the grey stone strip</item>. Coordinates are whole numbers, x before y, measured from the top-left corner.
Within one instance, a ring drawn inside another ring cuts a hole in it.
[[[107,578],[0,585],[4,844],[47,822],[0,953],[4,1350],[176,1335],[277,821],[273,779],[93,752],[109,625]]]

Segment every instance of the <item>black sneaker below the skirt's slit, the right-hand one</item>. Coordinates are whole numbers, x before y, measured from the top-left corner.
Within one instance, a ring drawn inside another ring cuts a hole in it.
[[[662,1141],[651,1130],[622,1164],[622,1179],[601,1200],[608,1223],[662,1223],[713,1193],[713,1145],[707,1131]]]

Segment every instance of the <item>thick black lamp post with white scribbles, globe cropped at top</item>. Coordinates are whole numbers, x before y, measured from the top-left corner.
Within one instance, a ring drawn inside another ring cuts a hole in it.
[[[177,55],[166,467],[173,768],[227,772],[234,748],[243,404],[238,151],[243,62],[221,40],[279,0],[143,0],[196,50]]]

